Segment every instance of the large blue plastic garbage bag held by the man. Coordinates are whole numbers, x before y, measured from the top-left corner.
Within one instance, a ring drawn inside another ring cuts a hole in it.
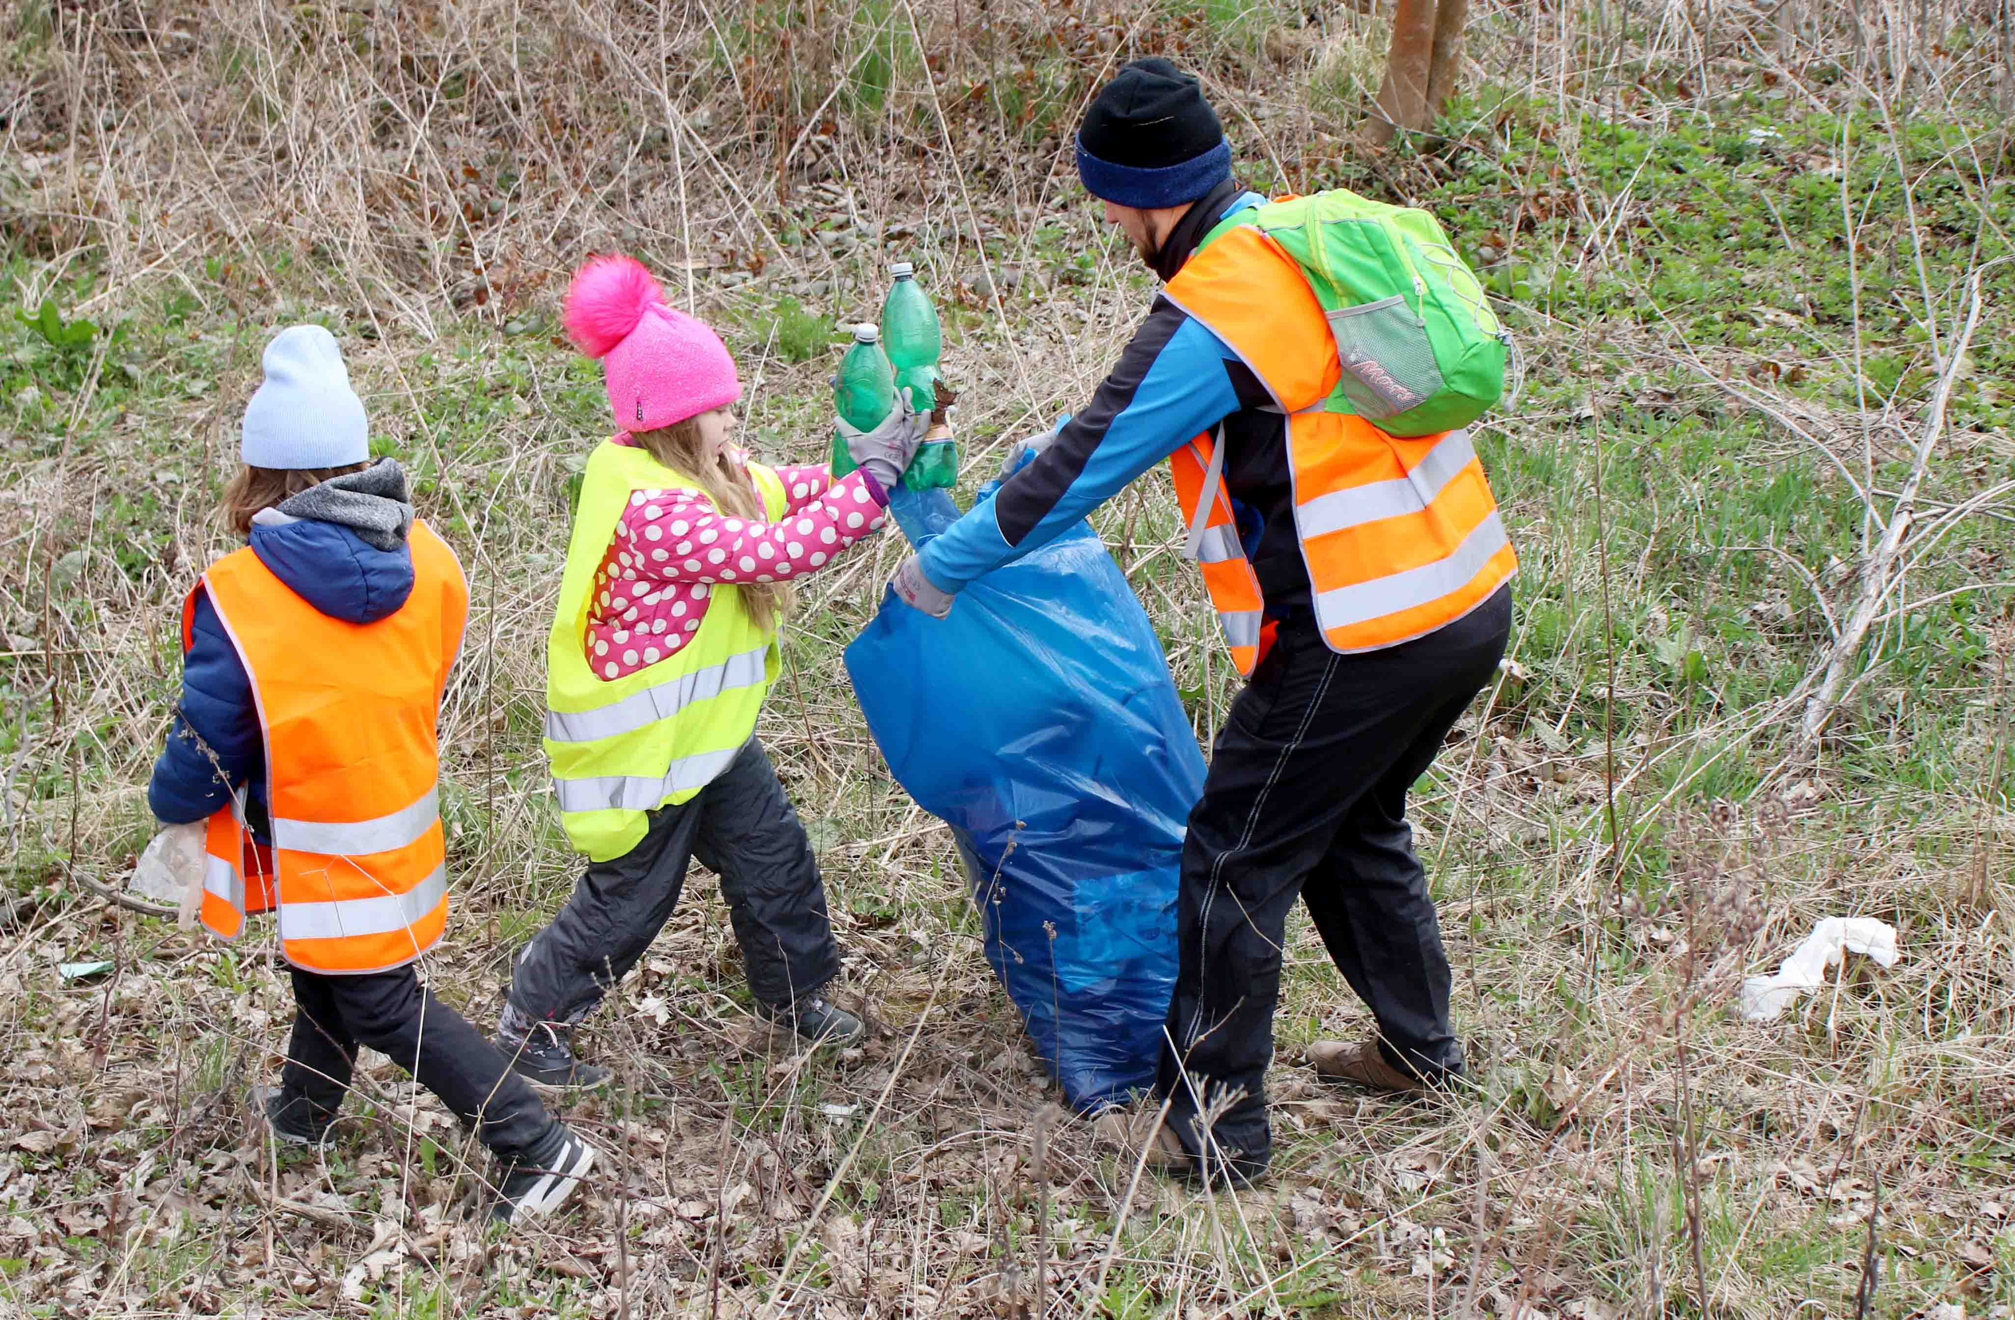
[[[919,546],[959,516],[941,490],[893,512]],[[985,957],[1070,1104],[1153,1086],[1203,754],[1104,544],[1078,522],[947,619],[889,592],[846,671],[897,782],[951,826]]]

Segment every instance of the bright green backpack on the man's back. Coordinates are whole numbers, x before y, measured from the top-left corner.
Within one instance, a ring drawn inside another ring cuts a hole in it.
[[[1324,407],[1388,435],[1435,435],[1481,417],[1505,387],[1509,337],[1483,286],[1427,212],[1332,189],[1227,216],[1302,266],[1342,379]]]

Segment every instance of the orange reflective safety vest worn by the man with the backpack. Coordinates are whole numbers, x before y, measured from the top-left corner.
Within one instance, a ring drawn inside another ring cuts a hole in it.
[[[1455,623],[1517,570],[1467,431],[1386,435],[1338,391],[1336,337],[1302,268],[1251,226],[1225,230],[1167,296],[1259,377],[1286,413],[1294,526],[1332,651],[1378,651]],[[1223,443],[1169,459],[1231,659],[1249,675],[1271,645],[1259,578],[1223,492]]]

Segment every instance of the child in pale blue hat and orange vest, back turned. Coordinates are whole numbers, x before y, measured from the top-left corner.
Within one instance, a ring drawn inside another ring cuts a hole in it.
[[[250,544],[183,605],[181,701],[147,800],[171,826],[208,822],[206,927],[238,939],[278,911],[300,1012],[280,1086],[254,1096],[274,1139],[320,1145],[371,1046],[498,1157],[494,1217],[542,1215],[594,1149],[415,975],[447,923],[435,725],[467,580],[413,518],[399,464],[371,461],[334,337],[282,331],[264,367],[224,496]]]

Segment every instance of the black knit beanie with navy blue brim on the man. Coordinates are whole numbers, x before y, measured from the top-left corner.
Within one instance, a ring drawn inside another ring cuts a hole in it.
[[[1231,177],[1231,147],[1197,79],[1169,60],[1134,60],[1084,111],[1078,177],[1120,206],[1183,206]]]

